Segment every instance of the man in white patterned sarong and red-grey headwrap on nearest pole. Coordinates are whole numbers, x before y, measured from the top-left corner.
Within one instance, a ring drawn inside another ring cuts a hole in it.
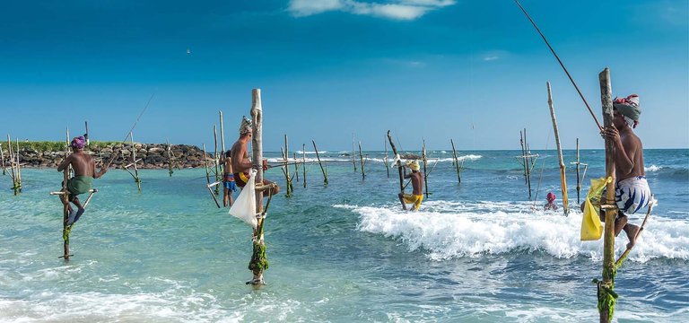
[[[632,94],[626,98],[615,98],[613,101],[613,125],[606,127],[601,135],[615,144],[615,236],[623,231],[629,238],[628,248],[636,243],[638,225],[627,223],[627,215],[634,214],[649,205],[651,194],[643,170],[643,146],[641,139],[634,134],[633,128],[639,124],[641,106],[639,96]]]

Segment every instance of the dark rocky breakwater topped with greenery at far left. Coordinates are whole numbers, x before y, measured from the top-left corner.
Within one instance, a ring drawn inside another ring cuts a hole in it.
[[[177,168],[195,168],[204,166],[204,151],[196,146],[188,144],[120,144],[115,146],[99,147],[91,145],[84,148],[84,153],[89,153],[96,159],[97,167],[100,160],[108,162],[110,156],[115,154],[115,161],[110,169],[123,168],[132,163],[132,153],[135,153],[136,167],[139,169],[167,169],[170,162]],[[7,160],[7,152],[5,161]],[[39,152],[31,148],[20,149],[19,161],[22,167],[33,168],[57,168],[60,162],[65,160],[67,152]],[[212,162],[213,156],[206,154],[206,160]],[[209,164],[210,165],[210,164]]]

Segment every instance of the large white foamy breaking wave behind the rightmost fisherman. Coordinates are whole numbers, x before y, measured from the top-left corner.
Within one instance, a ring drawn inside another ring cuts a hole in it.
[[[409,251],[423,250],[434,260],[517,250],[544,251],[555,258],[602,257],[602,240],[580,241],[578,211],[565,217],[559,212],[531,210],[529,202],[429,201],[418,212],[404,212],[398,205],[334,206],[360,214],[359,230],[401,240]],[[641,223],[641,219],[632,218],[631,222]],[[624,234],[615,240],[618,255],[626,243]],[[653,216],[629,259],[646,262],[654,258],[689,259],[689,223]]]

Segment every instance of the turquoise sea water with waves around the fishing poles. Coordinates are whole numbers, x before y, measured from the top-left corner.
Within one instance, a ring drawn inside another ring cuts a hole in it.
[[[536,195],[541,178],[536,209],[519,152],[460,153],[461,184],[451,153],[432,152],[432,195],[416,213],[401,211],[396,170],[388,178],[381,152],[368,152],[366,179],[342,153],[321,156],[327,186],[310,164],[307,188],[295,182],[293,196],[281,193],[271,203],[270,268],[260,289],[244,284],[251,229],[215,207],[205,170],[177,170],[171,178],[167,170],[141,170],[141,194],[124,170],[94,180],[100,193],[74,226],[68,262],[58,258],[61,205],[48,195],[59,189],[61,173],[23,170],[20,196],[0,192],[0,321],[597,320],[590,282],[600,277],[602,240],[579,240],[578,211],[539,210],[548,191],[561,203],[553,151],[534,152],[541,155],[532,179]],[[604,157],[582,151],[581,162],[591,165],[587,181],[603,174]],[[566,152],[568,166],[573,160]],[[615,320],[686,321],[689,150],[647,150],[645,162],[659,204],[617,275]],[[573,167],[567,176],[575,204]],[[266,178],[284,187],[279,169]],[[9,177],[0,183],[9,188]]]

